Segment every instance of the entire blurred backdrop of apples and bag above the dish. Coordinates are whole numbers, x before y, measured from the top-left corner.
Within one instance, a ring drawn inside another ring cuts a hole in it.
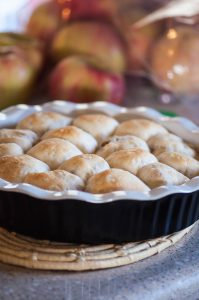
[[[1,0],[0,108],[61,99],[187,112],[199,95],[197,9],[197,0]]]

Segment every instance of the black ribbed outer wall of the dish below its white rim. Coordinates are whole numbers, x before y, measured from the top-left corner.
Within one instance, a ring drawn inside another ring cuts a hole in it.
[[[42,200],[0,191],[0,226],[32,238],[70,243],[123,243],[180,231],[199,219],[199,191],[158,200],[89,203]]]

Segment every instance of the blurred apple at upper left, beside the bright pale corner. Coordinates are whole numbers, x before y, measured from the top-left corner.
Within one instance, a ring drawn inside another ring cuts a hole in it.
[[[33,11],[26,25],[26,32],[48,46],[61,22],[61,8],[57,1],[48,1]]]

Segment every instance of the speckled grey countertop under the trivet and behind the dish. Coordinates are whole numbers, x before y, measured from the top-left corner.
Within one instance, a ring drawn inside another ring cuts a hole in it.
[[[150,89],[128,82],[127,106],[173,111],[199,122],[199,100],[162,104]],[[199,224],[182,241],[133,265],[95,272],[46,272],[0,264],[1,300],[199,299]]]

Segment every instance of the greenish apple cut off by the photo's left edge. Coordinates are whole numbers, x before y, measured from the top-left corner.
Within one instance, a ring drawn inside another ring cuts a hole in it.
[[[42,63],[41,45],[35,39],[0,33],[0,108],[28,99]]]

